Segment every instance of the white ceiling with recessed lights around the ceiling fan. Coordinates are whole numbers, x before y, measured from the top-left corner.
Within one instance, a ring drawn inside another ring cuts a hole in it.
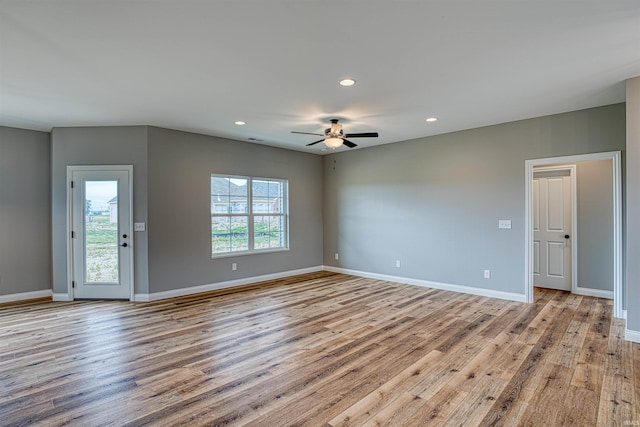
[[[290,131],[340,118],[368,147],[623,102],[636,76],[638,0],[0,0],[0,125],[26,129],[321,153]]]

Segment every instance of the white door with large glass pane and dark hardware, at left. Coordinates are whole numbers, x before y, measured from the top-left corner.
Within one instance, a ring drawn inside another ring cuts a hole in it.
[[[70,167],[74,298],[131,299],[131,166]]]

